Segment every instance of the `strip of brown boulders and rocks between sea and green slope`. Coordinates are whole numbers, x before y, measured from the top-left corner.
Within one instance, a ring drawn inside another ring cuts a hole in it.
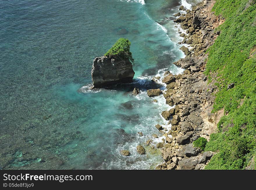
[[[158,143],[157,148],[161,148],[164,163],[158,165],[156,169],[204,169],[214,152],[203,152],[202,149],[194,147],[193,141],[199,137],[204,137],[209,141],[209,135],[217,132],[217,123],[223,115],[223,110],[212,114],[214,103],[214,79],[209,83],[204,75],[207,60],[206,50],[214,43],[220,34],[215,28],[222,24],[224,20],[216,17],[211,9],[214,1],[204,0],[192,10],[185,10],[186,14],[177,13],[178,18],[174,22],[179,23],[186,34],[180,32],[184,37],[181,44],[186,44],[180,49],[186,57],[175,62],[176,66],[184,68],[184,73],[173,75],[169,71],[164,74],[162,82],[166,86],[163,96],[166,104],[174,108],[163,111],[164,119],[169,120],[172,125],[167,131],[157,124],[156,128],[166,136],[163,143]],[[189,48],[188,48],[189,47]],[[154,77],[153,80],[159,80]],[[150,97],[157,90],[149,90]],[[148,140],[147,145],[152,141]]]

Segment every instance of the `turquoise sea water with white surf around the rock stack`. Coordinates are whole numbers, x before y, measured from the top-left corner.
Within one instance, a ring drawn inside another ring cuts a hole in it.
[[[136,153],[166,124],[153,76],[182,69],[171,18],[176,0],[0,1],[0,168],[154,169],[158,151]],[[120,37],[131,41],[134,82],[89,90],[91,67]],[[141,94],[132,96],[134,87]],[[137,135],[141,131],[143,136]],[[153,139],[153,145],[161,138]],[[128,149],[129,157],[120,154]]]

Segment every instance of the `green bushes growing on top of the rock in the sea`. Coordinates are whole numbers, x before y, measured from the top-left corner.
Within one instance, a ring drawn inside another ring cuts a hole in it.
[[[132,53],[130,52],[131,42],[128,39],[120,38],[115,44],[110,48],[105,56],[118,56],[121,58],[128,58],[131,62],[134,62],[132,58]]]

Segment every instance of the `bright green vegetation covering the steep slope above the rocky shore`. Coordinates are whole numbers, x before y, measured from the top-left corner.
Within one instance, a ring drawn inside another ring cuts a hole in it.
[[[256,1],[217,0],[225,22],[209,48],[206,74],[218,73],[214,110],[225,109],[205,151],[217,152],[205,169],[244,169],[256,155]],[[228,89],[228,84],[234,87]],[[255,162],[255,161],[253,161]]]

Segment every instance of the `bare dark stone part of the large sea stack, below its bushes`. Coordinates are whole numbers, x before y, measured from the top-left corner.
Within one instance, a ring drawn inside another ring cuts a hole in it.
[[[101,88],[132,82],[135,73],[129,59],[103,56],[93,60],[91,74],[94,88]]]

